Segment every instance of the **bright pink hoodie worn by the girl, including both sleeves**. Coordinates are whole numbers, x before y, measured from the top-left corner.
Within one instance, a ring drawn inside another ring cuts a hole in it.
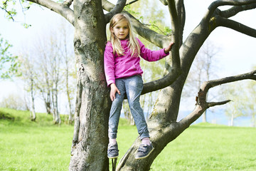
[[[144,44],[139,41],[140,46],[140,56],[146,61],[158,61],[169,55],[169,53],[164,53],[164,48],[159,51],[151,51],[145,48]],[[117,53],[113,54],[113,48],[110,41],[107,42],[105,53],[104,53],[104,68],[105,76],[107,80],[107,86],[115,83],[116,78],[126,78],[135,75],[142,76],[142,68],[139,66],[139,57],[131,56],[131,52],[128,48],[128,40],[120,40],[121,46],[124,49],[124,56],[118,56]]]

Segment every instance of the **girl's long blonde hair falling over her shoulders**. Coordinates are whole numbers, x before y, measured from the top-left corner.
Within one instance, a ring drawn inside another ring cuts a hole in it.
[[[129,20],[129,16],[127,14],[115,14],[112,19],[110,20],[110,33],[111,28],[114,28],[114,26],[117,25],[120,21],[127,21],[127,24],[129,26],[129,45],[128,48],[131,51],[132,56],[139,57],[140,54],[140,46],[137,39],[134,37],[132,33],[132,25]],[[119,41],[119,38],[114,35],[114,33],[111,33],[110,35],[110,41],[112,43],[113,53],[117,53],[118,56],[124,56],[124,49],[121,46],[121,43]]]

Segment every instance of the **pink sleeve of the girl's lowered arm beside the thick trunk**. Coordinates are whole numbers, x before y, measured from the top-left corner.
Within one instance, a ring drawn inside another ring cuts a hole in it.
[[[110,42],[107,42],[104,52],[104,70],[105,76],[107,81],[107,86],[110,84],[115,83],[114,78],[114,54],[113,48]]]

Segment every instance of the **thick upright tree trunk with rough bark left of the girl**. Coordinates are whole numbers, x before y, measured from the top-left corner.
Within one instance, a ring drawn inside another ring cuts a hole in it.
[[[106,33],[100,0],[75,0],[78,95],[70,170],[109,170],[107,129],[110,98],[103,69]]]

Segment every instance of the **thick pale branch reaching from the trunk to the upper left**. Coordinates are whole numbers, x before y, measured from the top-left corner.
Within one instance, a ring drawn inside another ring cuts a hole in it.
[[[63,16],[65,19],[67,19],[70,24],[74,26],[75,24],[75,16],[74,11],[70,9],[67,5],[64,4],[58,4],[54,1],[50,0],[28,0],[33,3],[39,4],[41,6],[45,6],[46,8],[50,9],[51,11],[55,11],[56,13]]]

